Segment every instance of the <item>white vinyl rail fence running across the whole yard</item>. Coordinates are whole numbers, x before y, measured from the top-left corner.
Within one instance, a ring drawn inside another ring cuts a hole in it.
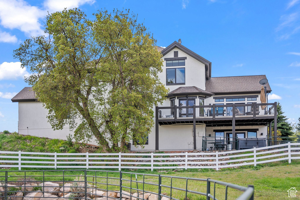
[[[220,169],[300,159],[300,143],[199,153],[38,153],[0,151],[0,167],[110,169]]]

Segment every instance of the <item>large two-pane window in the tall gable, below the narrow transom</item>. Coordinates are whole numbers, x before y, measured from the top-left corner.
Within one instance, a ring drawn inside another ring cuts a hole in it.
[[[169,68],[167,69],[167,85],[184,85],[185,84],[185,68]]]

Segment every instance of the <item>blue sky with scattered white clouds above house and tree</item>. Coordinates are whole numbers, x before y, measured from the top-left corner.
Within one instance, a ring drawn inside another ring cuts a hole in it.
[[[166,47],[182,45],[212,62],[212,77],[266,75],[269,102],[282,104],[289,122],[300,117],[300,0],[0,0],[0,131],[18,131],[18,103],[11,98],[24,87],[27,68],[13,50],[43,34],[47,12],[80,8],[93,13],[114,8],[138,14]]]

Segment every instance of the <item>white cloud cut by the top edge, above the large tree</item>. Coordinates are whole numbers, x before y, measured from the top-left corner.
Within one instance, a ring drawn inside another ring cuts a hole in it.
[[[66,7],[67,9],[79,7],[83,4],[93,4],[95,0],[46,0],[44,7],[50,12],[62,11]]]

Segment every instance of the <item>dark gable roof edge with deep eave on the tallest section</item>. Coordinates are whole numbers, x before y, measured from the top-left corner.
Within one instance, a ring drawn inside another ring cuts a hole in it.
[[[187,49],[185,46],[182,44],[179,44],[178,42],[174,41],[172,44],[167,46],[165,49],[161,51],[161,54],[166,55],[170,51],[172,51],[174,48],[178,48],[180,51],[183,51],[187,55],[195,58],[199,62],[203,63],[205,65],[205,78],[206,80],[211,78],[211,62],[206,60],[204,57],[199,56],[195,52],[191,51],[190,49]]]

